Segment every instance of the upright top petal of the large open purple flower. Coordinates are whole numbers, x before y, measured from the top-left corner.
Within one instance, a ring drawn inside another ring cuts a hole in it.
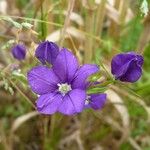
[[[63,48],[56,58],[53,69],[61,81],[70,82],[78,69],[77,59],[70,51]]]

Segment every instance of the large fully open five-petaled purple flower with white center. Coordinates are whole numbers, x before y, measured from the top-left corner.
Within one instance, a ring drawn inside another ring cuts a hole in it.
[[[31,69],[27,78],[31,89],[40,95],[37,110],[42,114],[81,112],[86,100],[86,79],[98,70],[97,65],[79,67],[75,56],[65,48],[59,52],[52,68],[37,66]]]

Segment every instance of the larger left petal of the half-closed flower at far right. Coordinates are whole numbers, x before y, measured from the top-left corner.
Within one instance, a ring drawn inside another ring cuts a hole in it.
[[[134,53],[125,53],[125,54],[118,54],[113,57],[111,62],[111,72],[115,75],[116,78],[120,77],[121,75],[125,74],[130,62],[135,59]]]

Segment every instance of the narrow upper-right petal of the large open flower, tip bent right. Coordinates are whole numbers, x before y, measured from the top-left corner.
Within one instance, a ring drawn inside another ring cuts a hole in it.
[[[85,89],[87,86],[86,79],[99,71],[99,68],[97,65],[83,65],[82,67],[79,68],[77,71],[75,78],[72,82],[72,88],[79,88],[79,89]]]

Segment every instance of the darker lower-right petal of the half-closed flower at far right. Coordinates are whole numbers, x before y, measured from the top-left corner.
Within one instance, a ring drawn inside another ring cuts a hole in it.
[[[142,75],[142,69],[138,66],[136,61],[132,61],[128,67],[127,72],[119,78],[125,82],[136,82]]]

